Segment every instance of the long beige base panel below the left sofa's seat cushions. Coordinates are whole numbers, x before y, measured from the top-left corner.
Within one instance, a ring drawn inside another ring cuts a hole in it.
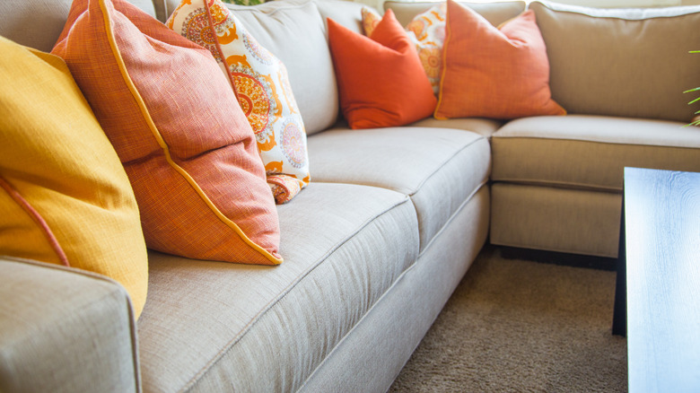
[[[488,206],[488,187],[480,188],[300,392],[329,386],[335,391],[388,391],[486,242]]]

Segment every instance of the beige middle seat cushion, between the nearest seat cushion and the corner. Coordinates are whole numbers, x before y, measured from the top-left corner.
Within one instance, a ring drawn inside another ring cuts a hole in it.
[[[338,127],[309,138],[314,181],[389,188],[416,205],[421,250],[486,183],[485,137],[464,130]]]

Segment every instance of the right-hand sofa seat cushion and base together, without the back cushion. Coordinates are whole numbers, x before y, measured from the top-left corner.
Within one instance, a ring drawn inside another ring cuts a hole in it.
[[[626,166],[700,170],[696,127],[669,120],[523,118],[492,139],[491,241],[616,257]]]

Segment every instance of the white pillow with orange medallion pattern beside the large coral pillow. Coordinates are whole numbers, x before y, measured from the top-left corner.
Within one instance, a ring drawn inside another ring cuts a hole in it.
[[[311,177],[306,131],[284,64],[221,0],[184,0],[166,25],[214,55],[255,131],[276,202],[290,201]]]

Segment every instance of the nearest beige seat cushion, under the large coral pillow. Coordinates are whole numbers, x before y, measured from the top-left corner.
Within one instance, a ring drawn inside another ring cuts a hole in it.
[[[150,254],[144,391],[293,391],[418,258],[416,211],[382,188],[311,183],[279,205],[280,266]]]

